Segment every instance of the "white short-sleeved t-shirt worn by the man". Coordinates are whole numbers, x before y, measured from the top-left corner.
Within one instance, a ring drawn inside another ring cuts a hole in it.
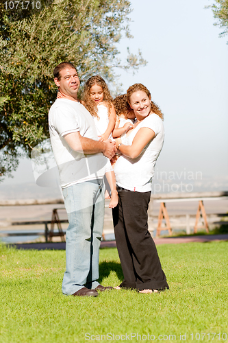
[[[110,166],[109,159],[101,152],[84,154],[72,150],[64,139],[68,133],[79,132],[81,137],[98,141],[94,120],[82,104],[69,99],[56,99],[49,110],[49,132],[62,188],[103,178]]]

